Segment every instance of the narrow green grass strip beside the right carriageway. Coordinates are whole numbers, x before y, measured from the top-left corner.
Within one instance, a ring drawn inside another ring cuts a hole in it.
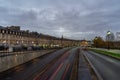
[[[100,54],[104,54],[107,56],[111,56],[117,59],[120,59],[120,54],[118,53],[113,53],[113,52],[108,52],[108,51],[104,51],[104,50],[97,50],[97,49],[90,49],[91,51],[94,51],[96,53],[100,53]]]

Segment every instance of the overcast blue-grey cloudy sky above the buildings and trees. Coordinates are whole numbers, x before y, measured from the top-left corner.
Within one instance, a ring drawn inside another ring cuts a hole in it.
[[[91,40],[120,32],[120,0],[0,0],[0,25]]]

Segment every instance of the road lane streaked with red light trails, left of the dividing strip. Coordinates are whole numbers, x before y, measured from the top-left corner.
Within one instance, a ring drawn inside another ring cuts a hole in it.
[[[38,74],[34,80],[70,80],[77,49],[73,48],[64,53],[54,65],[49,67],[43,74]]]

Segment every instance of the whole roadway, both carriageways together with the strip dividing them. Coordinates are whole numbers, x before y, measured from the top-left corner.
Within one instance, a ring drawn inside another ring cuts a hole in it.
[[[72,47],[45,54],[3,71],[0,80],[119,80],[119,74],[119,60]]]

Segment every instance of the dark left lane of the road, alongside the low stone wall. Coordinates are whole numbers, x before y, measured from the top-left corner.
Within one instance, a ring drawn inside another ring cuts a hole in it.
[[[36,58],[13,69],[0,73],[0,80],[30,80],[55,58],[63,55],[68,48]]]

